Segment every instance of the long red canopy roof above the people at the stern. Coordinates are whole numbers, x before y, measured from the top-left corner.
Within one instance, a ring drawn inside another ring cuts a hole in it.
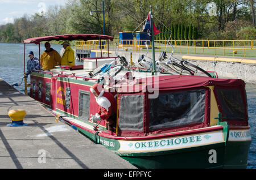
[[[110,40],[113,41],[114,37],[107,35],[94,35],[94,34],[76,34],[76,35],[57,35],[57,36],[44,36],[44,37],[32,37],[23,40],[24,43],[39,44],[41,41],[72,41],[72,40]]]

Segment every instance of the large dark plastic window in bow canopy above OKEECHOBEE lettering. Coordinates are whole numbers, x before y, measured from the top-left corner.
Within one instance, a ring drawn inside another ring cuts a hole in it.
[[[159,93],[150,99],[150,130],[204,122],[205,89]]]

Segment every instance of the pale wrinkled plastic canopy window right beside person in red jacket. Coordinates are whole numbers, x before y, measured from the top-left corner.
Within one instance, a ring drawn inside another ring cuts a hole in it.
[[[143,131],[144,95],[121,96],[119,128],[121,131]]]

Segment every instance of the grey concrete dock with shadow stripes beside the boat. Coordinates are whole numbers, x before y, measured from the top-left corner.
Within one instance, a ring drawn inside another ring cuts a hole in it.
[[[9,110],[26,110],[28,126],[8,127]],[[101,144],[55,122],[42,105],[0,78],[0,168],[135,169]]]

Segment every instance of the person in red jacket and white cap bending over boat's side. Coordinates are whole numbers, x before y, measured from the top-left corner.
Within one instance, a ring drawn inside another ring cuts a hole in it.
[[[102,84],[94,84],[90,88],[98,104],[98,112],[95,115],[90,114],[90,121],[97,122],[101,119],[106,122],[106,129],[115,132],[116,115],[117,115],[117,100],[112,93],[105,92]]]

